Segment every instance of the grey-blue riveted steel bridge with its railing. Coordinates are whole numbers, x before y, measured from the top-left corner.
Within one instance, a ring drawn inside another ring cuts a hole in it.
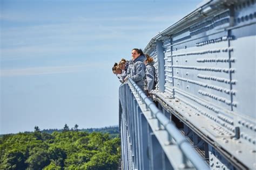
[[[144,52],[158,84],[119,88],[124,169],[256,169],[256,2],[204,1]]]

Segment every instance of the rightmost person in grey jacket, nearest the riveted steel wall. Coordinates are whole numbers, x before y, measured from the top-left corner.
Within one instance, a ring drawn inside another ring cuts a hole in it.
[[[155,84],[155,75],[156,75],[156,68],[154,68],[154,59],[146,54],[146,60],[144,61],[146,65],[146,79],[145,79],[145,93],[149,96],[149,92],[153,90],[156,86]]]

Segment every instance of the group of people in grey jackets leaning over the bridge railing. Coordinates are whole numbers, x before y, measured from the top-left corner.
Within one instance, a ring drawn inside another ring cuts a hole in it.
[[[151,56],[144,54],[142,49],[133,48],[132,59],[122,59],[119,63],[114,63],[112,71],[122,83],[130,77],[149,96],[149,92],[156,86],[156,69],[153,65]]]

